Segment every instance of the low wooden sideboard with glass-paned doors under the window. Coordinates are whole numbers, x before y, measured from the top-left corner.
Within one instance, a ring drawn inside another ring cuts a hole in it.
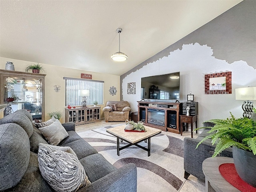
[[[76,125],[100,121],[100,107],[80,107],[65,109],[66,123],[73,122]]]

